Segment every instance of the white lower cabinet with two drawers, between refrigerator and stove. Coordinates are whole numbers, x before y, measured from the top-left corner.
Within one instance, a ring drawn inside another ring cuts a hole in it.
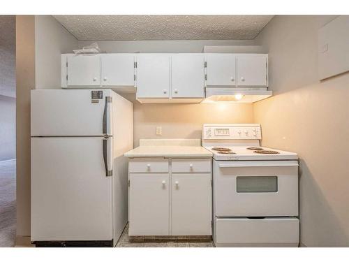
[[[128,180],[129,235],[212,234],[211,159],[130,159]]]

